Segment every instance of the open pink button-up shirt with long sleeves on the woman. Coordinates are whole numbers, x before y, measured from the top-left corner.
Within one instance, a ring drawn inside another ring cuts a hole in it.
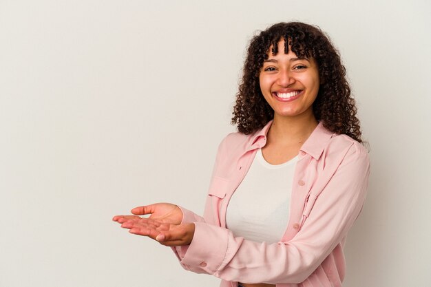
[[[359,142],[317,125],[300,151],[291,195],[290,219],[280,242],[234,237],[226,211],[271,122],[252,135],[222,140],[204,217],[182,209],[196,225],[189,246],[174,248],[183,268],[220,277],[222,287],[270,283],[277,287],[337,287],[345,275],[344,242],[364,204],[370,162]],[[265,191],[262,191],[265,192]],[[259,211],[256,211],[257,213]]]

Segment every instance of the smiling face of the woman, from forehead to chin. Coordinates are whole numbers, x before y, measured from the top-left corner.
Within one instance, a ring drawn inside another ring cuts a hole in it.
[[[271,47],[269,49],[271,51]],[[319,70],[313,59],[299,59],[289,49],[284,54],[284,40],[278,53],[269,52],[260,70],[260,89],[277,117],[313,115],[312,105],[319,92]]]

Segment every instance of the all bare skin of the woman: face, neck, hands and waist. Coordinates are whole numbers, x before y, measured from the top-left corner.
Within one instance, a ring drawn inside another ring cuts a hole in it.
[[[262,148],[265,160],[271,164],[281,164],[297,156],[317,126],[313,103],[320,85],[319,70],[313,59],[298,59],[291,49],[285,54],[284,41],[278,43],[278,51],[276,55],[269,54],[259,76],[262,94],[274,110],[273,124]],[[295,96],[288,99],[277,96],[291,92]],[[175,204],[139,206],[131,212],[132,215],[116,215],[112,220],[129,229],[129,233],[150,237],[165,246],[189,245],[193,240],[195,225],[181,224],[182,211]],[[263,283],[242,285],[275,287]]]

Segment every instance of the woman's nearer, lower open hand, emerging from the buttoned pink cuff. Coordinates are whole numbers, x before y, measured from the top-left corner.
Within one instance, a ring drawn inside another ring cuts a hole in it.
[[[169,224],[160,220],[134,216],[121,224],[130,233],[150,237],[165,246],[189,245],[195,233],[195,224]]]

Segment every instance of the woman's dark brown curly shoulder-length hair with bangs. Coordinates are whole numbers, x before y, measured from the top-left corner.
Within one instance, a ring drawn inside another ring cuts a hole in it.
[[[350,95],[346,68],[328,36],[317,26],[300,22],[277,23],[251,40],[247,50],[242,80],[236,94],[231,123],[243,134],[252,134],[274,117],[259,83],[260,70],[269,57],[277,54],[277,43],[284,39],[284,53],[290,48],[299,58],[313,58],[319,70],[320,86],[313,103],[317,121],[336,134],[346,134],[362,142],[356,117],[355,99]]]

